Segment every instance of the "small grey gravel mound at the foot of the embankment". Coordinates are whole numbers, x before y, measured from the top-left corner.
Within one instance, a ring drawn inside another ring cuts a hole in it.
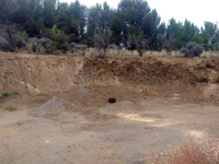
[[[34,108],[30,115],[34,117],[54,118],[68,112],[66,102],[60,97],[53,97],[47,103]]]

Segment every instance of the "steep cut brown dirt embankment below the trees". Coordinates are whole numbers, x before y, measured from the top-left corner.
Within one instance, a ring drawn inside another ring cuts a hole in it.
[[[186,99],[219,99],[218,60],[84,59],[0,52],[0,91],[61,93],[70,101],[76,96],[87,98],[85,104],[111,95],[134,98],[174,94],[177,98],[181,94]]]

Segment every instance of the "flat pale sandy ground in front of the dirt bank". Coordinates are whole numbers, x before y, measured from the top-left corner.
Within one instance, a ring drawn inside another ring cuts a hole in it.
[[[173,99],[122,101],[33,117],[0,107],[1,164],[145,164],[183,144],[219,138],[219,107]]]

